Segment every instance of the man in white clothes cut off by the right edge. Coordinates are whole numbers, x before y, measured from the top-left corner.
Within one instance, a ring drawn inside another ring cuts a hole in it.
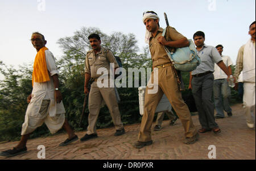
[[[245,106],[246,123],[254,128],[255,123],[255,21],[249,27],[250,39],[238,51],[234,74],[235,81],[242,72],[243,106]]]

